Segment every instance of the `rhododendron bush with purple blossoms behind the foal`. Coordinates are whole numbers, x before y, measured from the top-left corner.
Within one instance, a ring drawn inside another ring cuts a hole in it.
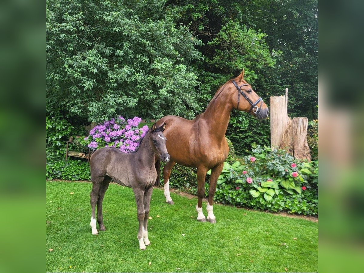
[[[102,147],[116,147],[124,153],[135,151],[139,146],[139,139],[148,132],[148,126],[138,128],[142,121],[137,116],[133,119],[124,119],[122,116],[107,120],[91,129],[88,137],[80,143],[87,145],[91,150]]]

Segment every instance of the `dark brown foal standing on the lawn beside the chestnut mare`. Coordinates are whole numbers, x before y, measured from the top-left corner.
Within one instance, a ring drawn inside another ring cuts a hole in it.
[[[163,131],[166,123],[157,127],[156,123],[142,139],[139,149],[135,153],[123,153],[114,147],[96,150],[90,159],[92,179],[91,196],[91,228],[92,234],[97,234],[95,206],[97,203],[97,221],[100,230],[105,230],[102,217],[102,201],[111,181],[122,186],[131,187],[134,191],[138,209],[139,248],[146,249],[150,245],[148,240],[148,217],[150,198],[153,185],[157,179],[155,162],[160,158],[163,162],[170,159],[166,148],[166,137]],[[158,181],[159,182],[159,181]]]

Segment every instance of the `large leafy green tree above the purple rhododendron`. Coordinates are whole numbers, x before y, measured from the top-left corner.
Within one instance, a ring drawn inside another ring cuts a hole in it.
[[[165,1],[47,1],[47,112],[101,122],[201,111],[201,44]]]

